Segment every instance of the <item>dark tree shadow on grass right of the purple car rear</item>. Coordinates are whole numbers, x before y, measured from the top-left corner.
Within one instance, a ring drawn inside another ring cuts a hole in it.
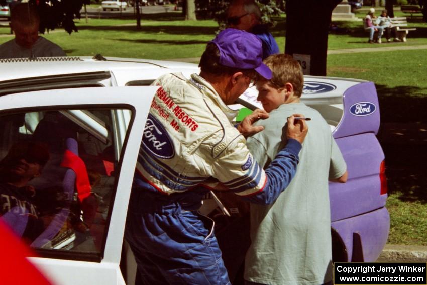
[[[416,86],[377,85],[377,92],[381,112],[378,139],[386,157],[389,193],[400,192],[401,201],[425,204],[427,91]]]

